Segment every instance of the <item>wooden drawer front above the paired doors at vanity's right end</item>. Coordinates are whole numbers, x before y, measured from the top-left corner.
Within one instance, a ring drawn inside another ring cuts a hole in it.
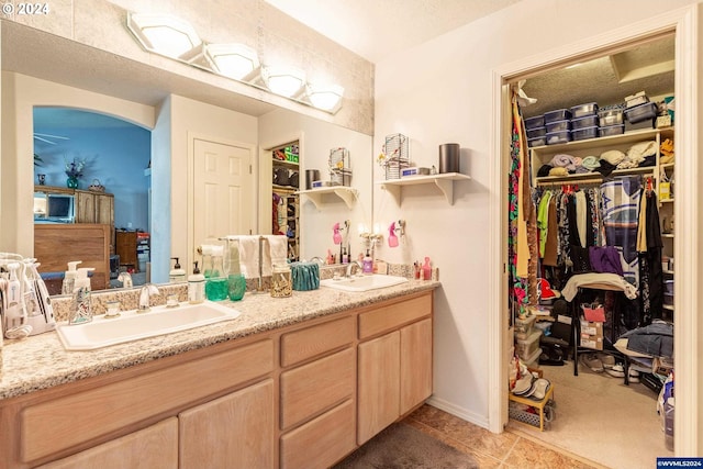
[[[432,314],[432,293],[359,314],[359,338],[373,337]]]

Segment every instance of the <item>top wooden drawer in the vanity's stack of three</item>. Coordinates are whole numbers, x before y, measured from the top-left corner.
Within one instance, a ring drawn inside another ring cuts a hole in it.
[[[281,367],[289,367],[354,342],[354,317],[347,316],[281,336]]]

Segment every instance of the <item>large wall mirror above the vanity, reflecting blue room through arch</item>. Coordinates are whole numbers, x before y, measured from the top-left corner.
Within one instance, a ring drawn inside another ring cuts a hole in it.
[[[198,75],[205,71],[183,78],[10,21],[2,20],[0,26],[2,223],[15,226],[2,233],[1,250],[26,256],[35,252],[34,190],[42,189],[41,182],[66,188],[65,165],[77,158],[86,160],[79,190],[104,186],[114,197],[112,225],[118,234],[148,233],[152,281],[168,281],[171,257],[179,257],[190,271],[201,237],[213,235],[199,234],[194,226],[200,200],[191,197],[193,148],[199,141],[219,141],[246,148],[252,174],[243,194],[245,220],[217,235],[269,234],[277,148],[299,145],[299,189],[304,190],[305,170],[316,169],[321,179],[330,180],[331,152],[344,147],[353,203],[335,194],[314,201],[299,196],[298,256],[324,257],[327,249],[338,249],[333,243],[336,223],[348,226],[345,243],[353,255],[359,252],[359,227],[372,225],[370,135],[200,82]],[[44,175],[42,180],[38,175]],[[114,231],[110,236],[114,252],[120,241]],[[137,270],[143,260],[137,256]]]

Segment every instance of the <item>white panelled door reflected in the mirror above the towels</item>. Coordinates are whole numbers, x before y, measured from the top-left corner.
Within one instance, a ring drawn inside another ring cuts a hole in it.
[[[193,243],[252,230],[254,148],[193,139]]]

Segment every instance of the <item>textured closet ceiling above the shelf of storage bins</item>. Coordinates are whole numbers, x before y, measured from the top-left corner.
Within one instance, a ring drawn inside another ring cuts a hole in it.
[[[650,98],[673,94],[673,59],[674,37],[670,35],[577,67],[528,78],[523,91],[537,102],[524,108],[524,115],[531,118],[589,102],[600,107],[618,104],[637,91],[645,91]],[[641,77],[627,79],[638,75]]]

